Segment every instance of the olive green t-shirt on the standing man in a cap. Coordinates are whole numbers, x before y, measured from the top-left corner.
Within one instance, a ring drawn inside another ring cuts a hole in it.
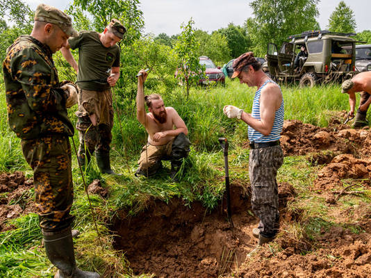
[[[79,74],[77,85],[83,90],[106,90],[110,88],[107,78],[111,67],[119,67],[119,46],[104,47],[99,33],[82,31],[68,40],[71,49],[79,49]]]

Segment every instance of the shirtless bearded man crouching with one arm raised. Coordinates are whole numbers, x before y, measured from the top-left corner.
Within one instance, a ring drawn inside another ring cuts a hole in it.
[[[135,176],[142,174],[149,177],[162,167],[161,161],[170,160],[170,177],[174,179],[181,167],[182,158],[190,152],[187,126],[174,108],[165,107],[160,95],[144,95],[143,85],[148,74],[140,70],[138,75],[137,119],[145,126],[148,142],[140,154]],[[145,113],[145,102],[149,113]]]

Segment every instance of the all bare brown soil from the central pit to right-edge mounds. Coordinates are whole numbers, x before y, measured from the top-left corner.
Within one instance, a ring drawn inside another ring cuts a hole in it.
[[[338,224],[322,227],[320,237],[289,231],[305,211],[286,208],[295,198],[289,183],[279,184],[281,229],[274,242],[256,250],[252,229],[249,184],[231,185],[234,228],[220,204],[213,211],[194,202],[186,206],[174,197],[169,204],[151,200],[131,217],[119,211],[113,221],[115,248],[122,250],[134,274],[154,277],[371,277],[371,208],[367,203],[344,211],[340,197],[353,188],[370,190],[371,137],[368,129],[354,130],[331,122],[329,128],[286,121],[281,146],[286,156],[306,155],[324,165],[313,192],[326,197]],[[349,179],[345,187],[342,181]],[[362,192],[363,190],[363,192]],[[311,221],[308,220],[308,221]],[[344,223],[352,222],[352,229]],[[356,223],[354,225],[354,222]],[[306,224],[306,223],[303,223]],[[354,228],[356,227],[356,228]],[[356,230],[354,230],[356,229]],[[249,256],[248,256],[249,254]]]

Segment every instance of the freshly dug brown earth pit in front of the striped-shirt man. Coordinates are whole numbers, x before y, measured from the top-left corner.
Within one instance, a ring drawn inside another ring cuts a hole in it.
[[[289,183],[279,188],[280,204],[286,205],[295,191]],[[257,243],[252,229],[258,220],[249,214],[249,186],[231,185],[233,229],[224,203],[206,211],[199,202],[186,206],[174,197],[169,204],[151,201],[146,211],[133,218],[121,211],[113,222],[114,246],[125,252],[135,274],[218,277],[245,261]]]

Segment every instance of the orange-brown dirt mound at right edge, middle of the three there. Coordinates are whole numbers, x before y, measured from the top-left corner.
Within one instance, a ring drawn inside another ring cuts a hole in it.
[[[330,190],[338,186],[343,187],[342,179],[358,179],[357,183],[370,186],[370,177],[371,161],[354,158],[351,154],[340,154],[318,172],[314,188]]]

